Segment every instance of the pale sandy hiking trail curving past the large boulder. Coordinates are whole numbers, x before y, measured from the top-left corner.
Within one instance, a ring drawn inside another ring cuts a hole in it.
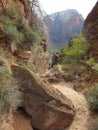
[[[76,115],[71,126],[65,130],[89,130],[90,110],[85,96],[69,87],[69,84],[53,84],[60,92],[71,99],[75,106]]]

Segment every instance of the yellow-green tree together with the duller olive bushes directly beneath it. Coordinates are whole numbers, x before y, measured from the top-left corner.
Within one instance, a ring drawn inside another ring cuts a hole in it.
[[[58,62],[68,75],[80,75],[86,70],[82,64],[89,44],[82,34],[73,37],[69,43],[58,52]]]

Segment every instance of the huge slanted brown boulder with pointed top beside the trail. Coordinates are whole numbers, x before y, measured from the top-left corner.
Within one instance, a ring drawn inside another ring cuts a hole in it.
[[[29,70],[14,64],[11,68],[19,80],[22,107],[31,116],[33,128],[63,130],[72,123],[75,112],[71,100]]]

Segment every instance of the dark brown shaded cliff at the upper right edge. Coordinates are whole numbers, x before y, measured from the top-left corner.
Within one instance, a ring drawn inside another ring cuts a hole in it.
[[[98,59],[98,2],[87,16],[82,32],[90,43],[89,57]]]

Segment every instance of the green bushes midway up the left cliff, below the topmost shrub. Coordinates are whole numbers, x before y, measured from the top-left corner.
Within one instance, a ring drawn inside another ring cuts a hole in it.
[[[6,36],[5,43],[11,44],[14,42],[19,48],[30,48],[34,43],[39,42],[40,34],[37,30],[29,27],[25,30],[25,24],[21,24],[19,26],[7,16],[0,18],[0,30]]]

